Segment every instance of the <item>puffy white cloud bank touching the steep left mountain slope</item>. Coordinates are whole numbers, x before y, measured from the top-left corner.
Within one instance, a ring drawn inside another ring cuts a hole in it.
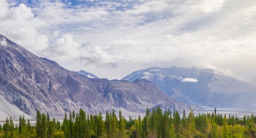
[[[43,20],[34,17],[31,9],[24,4],[9,8],[5,0],[1,2],[4,3],[0,3],[4,12],[0,15],[0,33],[30,52],[43,55],[42,52],[48,47],[47,36],[39,33]]]

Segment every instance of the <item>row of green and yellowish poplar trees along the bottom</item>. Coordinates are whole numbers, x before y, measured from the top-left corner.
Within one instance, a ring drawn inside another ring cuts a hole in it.
[[[36,124],[24,115],[14,126],[12,117],[0,125],[0,138],[256,138],[256,116],[221,115],[214,112],[186,115],[163,111],[160,107],[146,109],[145,116],[128,119],[119,111],[89,115],[80,109],[64,115],[62,122],[50,119],[48,113],[37,111]]]

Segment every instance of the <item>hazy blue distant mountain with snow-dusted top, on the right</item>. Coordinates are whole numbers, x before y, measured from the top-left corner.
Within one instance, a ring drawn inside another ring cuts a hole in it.
[[[158,68],[138,70],[122,80],[152,81],[169,96],[187,103],[213,107],[255,108],[256,87],[215,69]]]

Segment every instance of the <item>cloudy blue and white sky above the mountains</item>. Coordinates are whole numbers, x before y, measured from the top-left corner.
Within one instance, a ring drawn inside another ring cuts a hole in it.
[[[256,81],[256,0],[0,0],[0,34],[100,78],[193,66]]]

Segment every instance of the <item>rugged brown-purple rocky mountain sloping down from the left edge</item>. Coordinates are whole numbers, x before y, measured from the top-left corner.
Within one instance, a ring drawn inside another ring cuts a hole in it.
[[[0,96],[0,103],[13,107],[12,113],[23,111],[32,117],[37,109],[62,116],[64,112],[79,108],[87,113],[111,109],[144,112],[147,107],[164,103],[180,109],[202,110],[199,106],[177,102],[145,79],[109,81],[78,75],[52,60],[37,57],[2,35]],[[4,115],[13,115],[8,110],[2,111],[7,112]]]

